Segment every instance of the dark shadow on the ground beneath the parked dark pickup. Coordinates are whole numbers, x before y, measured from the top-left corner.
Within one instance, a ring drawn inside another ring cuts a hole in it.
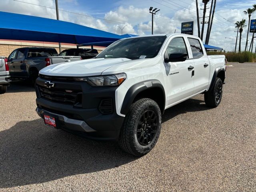
[[[14,81],[7,88],[7,93],[35,92],[33,84],[29,81]]]

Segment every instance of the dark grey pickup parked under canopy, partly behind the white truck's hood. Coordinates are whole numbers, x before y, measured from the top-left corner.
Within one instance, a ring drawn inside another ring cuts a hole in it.
[[[80,56],[58,56],[54,48],[25,47],[14,50],[8,56],[12,80],[31,79],[35,81],[38,72],[50,64],[80,60]]]

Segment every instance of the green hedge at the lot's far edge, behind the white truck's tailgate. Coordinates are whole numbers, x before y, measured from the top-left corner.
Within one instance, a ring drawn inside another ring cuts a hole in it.
[[[256,62],[256,54],[251,52],[208,51],[208,55],[225,55],[228,62]]]

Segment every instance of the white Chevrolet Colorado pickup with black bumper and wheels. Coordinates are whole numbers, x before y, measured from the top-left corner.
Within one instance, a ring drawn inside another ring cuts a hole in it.
[[[118,140],[142,156],[158,140],[164,110],[197,94],[220,104],[225,71],[225,56],[207,56],[196,36],[126,38],[96,58],[40,70],[36,112],[48,126]]]

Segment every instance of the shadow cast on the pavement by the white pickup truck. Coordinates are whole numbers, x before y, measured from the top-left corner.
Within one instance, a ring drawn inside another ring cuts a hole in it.
[[[190,99],[178,104],[166,110],[163,121],[206,110],[201,102]],[[0,132],[0,154],[0,188],[107,170],[138,158],[123,152],[115,142],[96,142],[48,128],[42,119],[18,122]]]

